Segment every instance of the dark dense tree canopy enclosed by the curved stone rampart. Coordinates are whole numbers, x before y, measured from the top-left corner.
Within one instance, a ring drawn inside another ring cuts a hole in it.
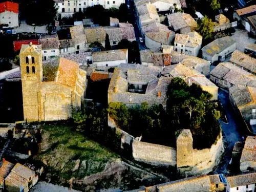
[[[211,97],[197,84],[189,87],[183,79],[174,78],[168,87],[166,110],[161,104],[127,108],[110,103],[108,112],[124,131],[135,137],[142,134],[143,141],[175,146],[175,132],[189,129],[194,147],[207,148],[220,134],[220,112]]]

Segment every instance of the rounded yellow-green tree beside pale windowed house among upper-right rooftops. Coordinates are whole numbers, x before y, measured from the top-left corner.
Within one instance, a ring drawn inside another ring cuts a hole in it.
[[[214,34],[214,23],[205,16],[198,25],[198,31],[204,39],[210,39]]]

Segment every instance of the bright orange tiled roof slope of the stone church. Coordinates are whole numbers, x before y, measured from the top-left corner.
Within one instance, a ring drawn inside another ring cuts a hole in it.
[[[61,57],[59,60],[56,82],[65,84],[74,89],[78,78],[78,72],[79,65],[76,62]]]

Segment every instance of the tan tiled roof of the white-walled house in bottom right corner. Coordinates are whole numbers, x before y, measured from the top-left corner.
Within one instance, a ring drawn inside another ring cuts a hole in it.
[[[230,187],[245,186],[256,183],[256,173],[226,177]]]

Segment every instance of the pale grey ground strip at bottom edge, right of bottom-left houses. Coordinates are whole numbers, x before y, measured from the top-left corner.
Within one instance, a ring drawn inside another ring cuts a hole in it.
[[[35,186],[30,189],[31,192],[80,192],[79,190],[69,189],[68,187],[62,187],[47,182],[38,182]]]

